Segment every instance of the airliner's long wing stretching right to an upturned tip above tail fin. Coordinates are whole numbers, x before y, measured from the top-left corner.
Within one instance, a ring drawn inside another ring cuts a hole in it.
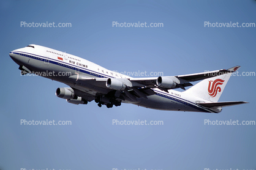
[[[83,75],[73,75],[69,79],[73,84],[78,84],[80,87],[92,87],[94,95],[96,93],[107,95],[115,91],[115,95],[125,100],[136,101],[137,98],[147,98],[148,95],[156,94],[152,88],[159,88],[162,91],[168,92],[168,89],[181,88],[185,90],[187,86],[193,86],[191,81],[198,81],[201,79],[219,76],[225,73],[232,73],[238,70],[240,66],[228,68],[227,70],[216,70],[212,72],[195,73],[189,75],[179,76],[160,76],[152,78],[89,78]],[[107,87],[107,81],[113,83],[113,86]],[[83,89],[80,89],[83,91]]]

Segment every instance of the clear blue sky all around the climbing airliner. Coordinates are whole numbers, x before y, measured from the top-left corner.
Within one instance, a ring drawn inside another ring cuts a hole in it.
[[[0,169],[256,169],[255,76],[230,78],[220,101],[247,101],[220,114],[157,111],[135,105],[72,105],[55,96],[65,84],[20,76],[9,52],[31,43],[83,57],[118,72],[183,75],[241,65],[255,72],[256,28],[205,28],[204,22],[256,23],[256,1],[1,1]],[[24,28],[72,23],[72,28]],[[164,23],[164,28],[113,28]],[[20,125],[71,120],[70,126]],[[163,120],[159,126],[112,120]]]

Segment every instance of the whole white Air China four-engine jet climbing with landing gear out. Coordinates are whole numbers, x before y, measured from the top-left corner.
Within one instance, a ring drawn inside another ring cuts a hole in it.
[[[228,79],[240,66],[178,76],[132,78],[66,52],[40,45],[10,51],[21,75],[36,74],[66,84],[56,96],[78,105],[94,100],[99,107],[132,103],[166,111],[220,113],[225,106],[248,102],[218,102]],[[191,82],[200,81],[191,84]],[[185,87],[190,87],[185,89]],[[175,91],[174,89],[184,91]]]

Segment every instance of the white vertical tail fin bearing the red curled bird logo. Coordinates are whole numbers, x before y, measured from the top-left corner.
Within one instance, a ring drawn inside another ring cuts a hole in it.
[[[184,93],[208,100],[210,102],[218,102],[230,76],[231,74],[227,73],[224,75],[203,79],[199,83],[187,89],[187,91],[184,91]]]

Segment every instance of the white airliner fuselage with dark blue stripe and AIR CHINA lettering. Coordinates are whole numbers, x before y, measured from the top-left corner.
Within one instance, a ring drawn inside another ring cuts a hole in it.
[[[29,68],[29,70],[32,70],[32,73],[43,72],[40,76],[67,84],[70,87],[90,95],[96,95],[98,93],[104,94],[106,89],[93,86],[93,84],[83,84],[83,86],[74,84],[70,81],[69,77],[80,75],[88,78],[131,78],[107,70],[106,68],[81,57],[53,50],[45,46],[29,45],[24,48],[13,50],[10,52],[10,57],[12,57],[13,61],[18,65],[24,65],[26,68]],[[54,75],[49,75],[49,73]],[[69,74],[65,75],[64,73]],[[156,92],[156,94],[149,95],[147,98],[138,98],[136,102],[123,102],[133,103],[134,105],[152,109],[217,113],[217,111],[214,111],[213,109],[203,108],[202,106],[197,105],[198,101],[207,102],[202,101],[201,98],[195,98],[175,90],[168,90],[168,93],[157,88],[152,90]]]

